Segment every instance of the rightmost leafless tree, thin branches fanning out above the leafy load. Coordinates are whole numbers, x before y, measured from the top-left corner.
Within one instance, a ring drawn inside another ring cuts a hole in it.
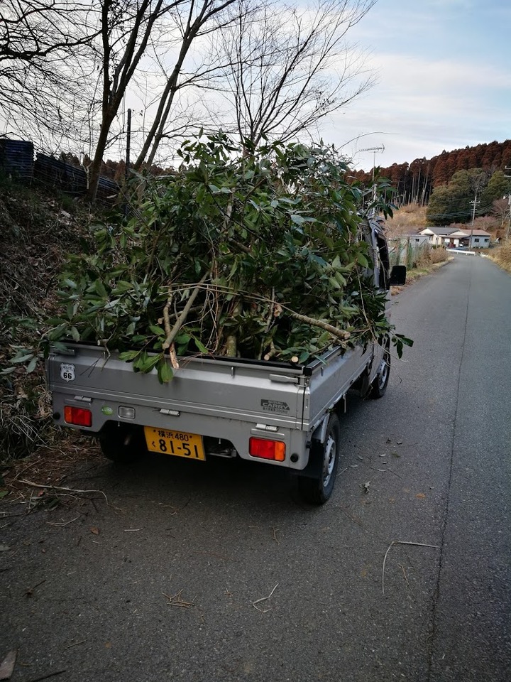
[[[292,139],[372,85],[346,33],[375,1],[239,0],[236,25],[220,34],[218,59],[228,64],[225,97],[242,139]]]

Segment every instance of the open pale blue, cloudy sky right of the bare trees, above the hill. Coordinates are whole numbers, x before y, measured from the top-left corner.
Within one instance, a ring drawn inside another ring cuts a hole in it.
[[[356,168],[511,138],[510,0],[378,0],[347,38],[377,82],[321,132]]]

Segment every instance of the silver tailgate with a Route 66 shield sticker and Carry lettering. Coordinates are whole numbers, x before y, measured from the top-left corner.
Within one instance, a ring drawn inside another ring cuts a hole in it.
[[[180,362],[175,377],[160,384],[155,371],[135,373],[131,364],[96,347],[76,345],[71,355],[53,352],[47,371],[54,409],[64,401],[92,401],[92,431],[118,418],[119,405],[302,428],[306,380],[301,369],[202,357]],[[146,425],[160,426],[160,421]]]

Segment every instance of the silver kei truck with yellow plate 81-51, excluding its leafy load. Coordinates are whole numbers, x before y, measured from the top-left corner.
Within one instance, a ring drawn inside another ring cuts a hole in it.
[[[375,286],[405,283],[389,273],[385,235],[370,223]],[[232,357],[185,357],[168,384],[155,370],[135,373],[115,353],[70,344],[52,352],[47,375],[55,423],[99,438],[114,462],[148,455],[243,458],[286,467],[302,498],[323,504],[334,489],[341,452],[339,409],[350,389],[380,398],[390,349],[377,343],[325,352],[307,364]]]

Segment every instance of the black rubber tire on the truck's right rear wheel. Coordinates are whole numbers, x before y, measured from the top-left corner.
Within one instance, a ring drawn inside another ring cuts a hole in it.
[[[334,491],[341,454],[341,423],[336,413],[331,413],[321,445],[322,466],[318,477],[298,477],[300,497],[309,504],[324,504]]]

